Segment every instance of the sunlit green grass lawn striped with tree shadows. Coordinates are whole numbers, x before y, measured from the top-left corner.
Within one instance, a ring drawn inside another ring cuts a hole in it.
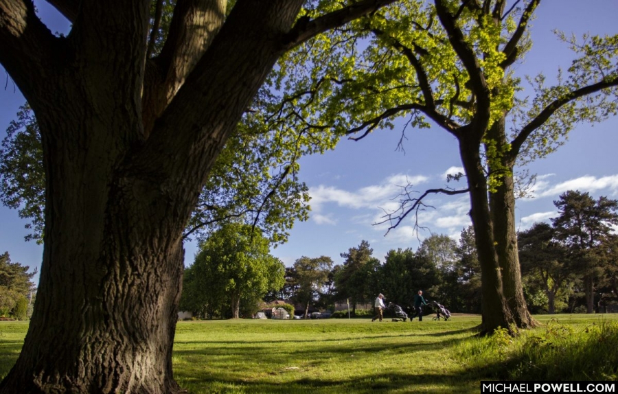
[[[547,332],[564,332],[564,327],[566,336],[575,339],[595,332],[591,327],[618,327],[617,314],[535,317],[545,327],[516,340],[475,337],[479,316],[455,316],[446,322],[426,316],[422,323],[180,322],[174,377],[190,393],[479,393],[480,380],[509,378],[505,371],[532,363],[518,353],[532,337],[547,343]],[[547,325],[554,318],[561,324]],[[0,322],[0,376],[16,360],[26,329],[27,323]]]

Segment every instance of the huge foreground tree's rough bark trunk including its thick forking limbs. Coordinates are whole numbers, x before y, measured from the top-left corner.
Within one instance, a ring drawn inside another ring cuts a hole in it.
[[[66,38],[30,1],[0,1],[0,61],[34,109],[46,174],[38,297],[0,393],[179,391],[183,229],[302,3],[239,0],[172,72],[145,58],[148,1],[81,2]]]

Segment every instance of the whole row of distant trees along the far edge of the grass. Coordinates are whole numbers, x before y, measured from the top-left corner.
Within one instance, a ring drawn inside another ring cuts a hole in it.
[[[554,204],[558,216],[551,224],[536,223],[518,233],[527,306],[534,313],[604,312],[618,294],[618,235],[613,233],[618,201],[569,191]],[[356,314],[358,305],[372,303],[380,292],[388,302],[406,308],[423,290],[426,299],[451,312],[481,313],[481,267],[472,227],[461,231],[459,240],[432,234],[415,251],[392,249],[383,263],[363,240],[341,253],[343,264],[334,264],[328,256],[303,256],[284,268],[274,257],[264,257],[270,255],[261,235],[252,238],[250,226],[234,226],[214,233],[187,268],[181,308],[203,316],[238,317],[234,310],[239,307],[241,315],[249,316],[260,301],[284,299],[305,315],[310,307],[334,310],[336,303],[349,303]],[[234,249],[241,239],[247,241],[246,248]],[[250,251],[256,240],[261,240],[260,253]],[[214,244],[225,245],[225,251],[214,251]],[[243,280],[247,283],[240,284]],[[246,289],[238,301],[233,301],[238,297],[234,286]]]

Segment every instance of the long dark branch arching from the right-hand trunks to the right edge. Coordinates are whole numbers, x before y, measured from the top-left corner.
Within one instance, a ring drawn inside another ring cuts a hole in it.
[[[517,137],[515,137],[515,139],[511,142],[510,154],[515,157],[519,153],[519,150],[523,146],[523,143],[532,134],[532,132],[545,124],[545,121],[547,121],[547,119],[549,119],[549,117],[551,117],[553,113],[556,113],[556,111],[558,111],[562,106],[569,104],[569,102],[577,100],[580,97],[597,93],[602,89],[607,89],[614,86],[618,86],[618,76],[614,76],[613,78],[609,78],[608,80],[597,82],[596,84],[584,86],[581,89],[577,89],[575,91],[572,91],[571,93],[562,95],[562,97],[554,100],[548,106],[546,106],[545,109],[543,109],[534,119],[532,119],[526,126],[521,129]]]

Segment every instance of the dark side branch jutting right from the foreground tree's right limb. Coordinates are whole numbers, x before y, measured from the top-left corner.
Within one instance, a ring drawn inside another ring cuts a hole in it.
[[[357,3],[352,3],[341,10],[319,16],[313,21],[301,18],[290,33],[286,35],[284,45],[286,49],[291,49],[320,33],[334,29],[334,27],[345,25],[345,23],[354,21],[354,19],[358,19],[361,16],[371,14],[371,12],[376,12],[385,5],[389,5],[395,1],[398,0],[362,0]]]

